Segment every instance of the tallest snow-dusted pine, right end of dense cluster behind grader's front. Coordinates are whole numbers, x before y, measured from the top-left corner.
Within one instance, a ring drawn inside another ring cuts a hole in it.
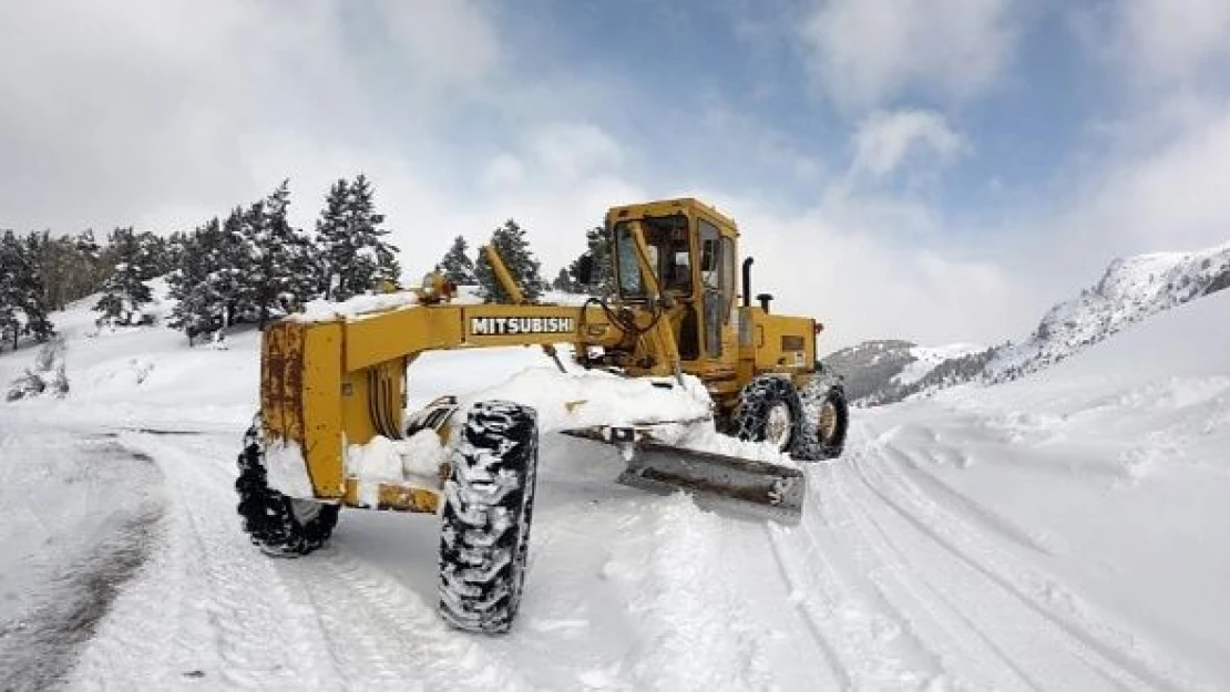
[[[401,268],[397,248],[383,238],[384,214],[375,211],[375,191],[362,173],[348,183],[339,179],[325,198],[316,221],[320,245],[322,294],[328,300],[346,300],[397,283]]]

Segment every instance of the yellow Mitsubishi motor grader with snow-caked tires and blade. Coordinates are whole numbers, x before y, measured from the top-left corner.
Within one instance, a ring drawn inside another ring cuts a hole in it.
[[[435,514],[442,616],[461,629],[506,632],[524,581],[536,412],[512,401],[462,407],[454,397],[416,413],[405,408],[407,368],[423,353],[509,345],[541,347],[563,369],[556,345],[569,344],[577,365],[654,387],[699,379],[712,402],[707,417],[566,433],[620,447],[627,462],[621,483],[797,521],[806,479],[790,461],[836,457],[845,444],[841,385],[820,372],[815,358],[822,326],[772,315],[770,295],[753,305],[752,259],[739,264],[734,221],[699,200],[616,206],[605,231],[614,293],[581,306],[526,300],[487,246],[482,252],[507,301],[458,300],[456,288],[432,273],[411,291],[362,296],[267,327],[261,409],[236,481],[252,542],[274,554],[310,553],[330,537],[343,505]],[[592,270],[588,264],[581,273]],[[788,458],[684,449],[656,435],[664,425],[716,425]],[[371,482],[357,471],[355,450],[422,435],[433,444],[402,447],[426,451],[406,458],[401,476]]]

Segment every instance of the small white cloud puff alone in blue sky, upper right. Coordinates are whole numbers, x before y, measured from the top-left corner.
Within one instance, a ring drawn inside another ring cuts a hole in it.
[[[876,111],[854,133],[852,173],[882,177],[895,171],[911,154],[929,151],[947,162],[968,147],[964,138],[932,111]]]

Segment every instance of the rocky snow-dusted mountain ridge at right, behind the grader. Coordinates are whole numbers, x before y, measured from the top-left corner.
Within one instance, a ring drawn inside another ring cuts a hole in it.
[[[873,340],[835,352],[825,366],[850,401],[877,406],[964,382],[1015,380],[1069,358],[1150,315],[1230,288],[1230,243],[1198,252],[1118,258],[1095,285],[1047,311],[1027,338],[989,349],[925,349]]]

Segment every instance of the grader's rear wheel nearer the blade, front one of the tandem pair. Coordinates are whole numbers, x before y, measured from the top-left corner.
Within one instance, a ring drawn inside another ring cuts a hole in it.
[[[740,440],[795,452],[803,440],[803,402],[788,377],[760,375],[739,392],[731,428]]]

